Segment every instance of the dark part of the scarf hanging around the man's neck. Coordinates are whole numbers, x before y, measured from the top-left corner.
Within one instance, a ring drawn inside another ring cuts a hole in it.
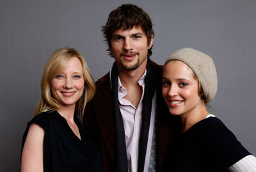
[[[111,101],[113,105],[113,114],[115,120],[116,132],[116,171],[128,171],[127,153],[125,144],[124,122],[118,105],[118,70],[114,63],[111,70]],[[142,100],[142,125],[140,134],[139,164],[138,172],[143,172],[145,156],[147,152],[148,131],[150,125],[150,115],[152,107],[152,98],[156,91],[156,73],[150,59],[147,59],[147,75],[145,77],[145,92]]]

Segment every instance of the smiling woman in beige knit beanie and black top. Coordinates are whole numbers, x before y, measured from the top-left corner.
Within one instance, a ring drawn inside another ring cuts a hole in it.
[[[256,171],[256,158],[205,107],[217,86],[216,68],[207,54],[184,48],[166,59],[163,97],[170,113],[182,121],[168,171]]]

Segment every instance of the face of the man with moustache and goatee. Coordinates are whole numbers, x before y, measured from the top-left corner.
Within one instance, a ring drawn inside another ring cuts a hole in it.
[[[152,36],[153,37],[153,36]],[[116,60],[118,68],[135,70],[141,64],[147,64],[148,49],[152,46],[147,43],[147,36],[141,27],[132,29],[117,29],[111,37],[111,52]]]

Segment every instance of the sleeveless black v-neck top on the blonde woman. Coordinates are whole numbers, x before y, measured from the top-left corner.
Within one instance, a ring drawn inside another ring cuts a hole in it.
[[[81,140],[57,111],[41,113],[29,121],[22,139],[22,149],[32,123],[45,130],[44,171],[102,171],[99,148],[79,119],[74,120]]]

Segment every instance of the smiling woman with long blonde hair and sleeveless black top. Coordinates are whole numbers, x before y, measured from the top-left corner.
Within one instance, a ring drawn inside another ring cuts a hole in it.
[[[76,49],[47,62],[35,117],[22,140],[21,171],[102,171],[99,149],[81,124],[95,94],[92,74]]]

